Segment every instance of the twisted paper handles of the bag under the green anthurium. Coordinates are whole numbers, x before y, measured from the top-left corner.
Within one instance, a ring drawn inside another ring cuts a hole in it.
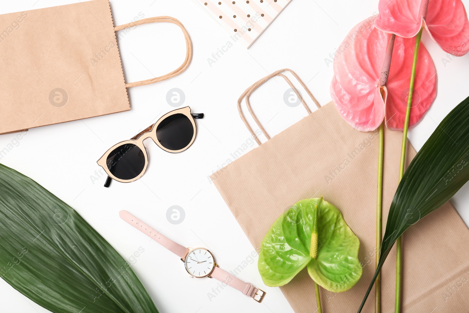
[[[283,79],[285,79],[285,81],[290,85],[290,87],[296,93],[296,96],[298,97],[298,99],[301,100],[301,103],[303,104],[303,107],[306,109],[308,114],[311,114],[311,110],[308,107],[308,105],[304,102],[304,99],[301,96],[301,94],[298,92],[298,90],[295,88],[295,86],[292,84],[292,82],[288,79],[288,77],[282,74],[282,72],[285,72],[285,71],[288,71],[288,72],[292,73],[293,76],[295,76],[296,80],[303,86],[304,90],[308,93],[311,100],[313,100],[313,102],[316,104],[316,107],[321,108],[321,105],[319,104],[318,100],[316,100],[316,98],[314,98],[313,94],[310,92],[308,87],[303,83],[303,81],[300,79],[300,77],[298,75],[296,75],[296,73],[291,69],[279,69],[278,71],[273,72],[272,74],[269,74],[269,75],[265,76],[262,79],[259,79],[256,83],[252,84],[248,89],[246,89],[238,99],[238,112],[239,112],[239,115],[240,115],[242,121],[244,122],[244,125],[246,125],[246,128],[251,133],[252,137],[256,140],[257,145],[261,145],[261,142],[259,141],[259,138],[257,138],[256,134],[254,133],[254,131],[250,127],[248,121],[246,120],[246,117],[242,113],[241,101],[244,97],[246,97],[246,106],[248,107],[248,111],[249,111],[250,115],[252,116],[252,118],[254,119],[257,126],[262,131],[262,133],[264,134],[264,136],[267,138],[267,140],[270,140],[269,134],[267,134],[264,127],[262,127],[261,123],[257,119],[257,116],[252,111],[251,104],[249,102],[249,97],[250,97],[252,92],[254,92],[257,88],[259,88],[260,85],[264,84],[267,80],[271,79],[273,76],[283,77]]]

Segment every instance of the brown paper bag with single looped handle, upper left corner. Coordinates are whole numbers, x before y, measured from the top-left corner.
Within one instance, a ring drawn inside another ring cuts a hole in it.
[[[116,31],[144,23],[178,25],[182,65],[164,76],[126,84]],[[159,16],[114,27],[108,0],[0,15],[0,134],[130,109],[126,87],[178,75],[192,46],[181,22]]]

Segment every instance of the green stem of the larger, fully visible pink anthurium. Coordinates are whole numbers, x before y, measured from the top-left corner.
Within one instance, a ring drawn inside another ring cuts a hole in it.
[[[381,208],[383,204],[383,152],[384,152],[384,122],[379,125],[378,149],[378,187],[376,192],[376,265],[378,268],[379,253],[381,253]],[[381,274],[375,282],[375,313],[381,312]]]

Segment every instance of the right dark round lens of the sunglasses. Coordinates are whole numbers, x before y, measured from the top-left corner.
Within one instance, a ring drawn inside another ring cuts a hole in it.
[[[189,117],[174,114],[161,121],[156,129],[159,143],[168,150],[181,150],[187,147],[194,136],[194,126]]]

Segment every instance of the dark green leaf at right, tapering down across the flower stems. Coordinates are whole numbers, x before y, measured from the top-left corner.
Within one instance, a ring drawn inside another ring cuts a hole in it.
[[[378,267],[358,313],[397,238],[444,205],[468,180],[469,97],[446,115],[404,173],[389,209]]]

